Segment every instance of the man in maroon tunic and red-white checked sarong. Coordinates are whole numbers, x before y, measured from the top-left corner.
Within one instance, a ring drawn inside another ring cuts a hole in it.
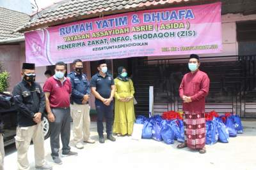
[[[190,73],[184,75],[180,83],[179,95],[183,101],[185,142],[177,148],[189,147],[205,153],[205,97],[209,93],[210,80],[199,70],[200,58],[191,54],[188,67]]]

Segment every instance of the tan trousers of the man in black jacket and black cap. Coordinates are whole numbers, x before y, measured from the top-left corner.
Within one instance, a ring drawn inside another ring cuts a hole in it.
[[[29,169],[28,149],[33,139],[36,166],[44,166],[44,132],[42,122],[29,127],[17,127],[15,143],[18,155],[18,169]]]

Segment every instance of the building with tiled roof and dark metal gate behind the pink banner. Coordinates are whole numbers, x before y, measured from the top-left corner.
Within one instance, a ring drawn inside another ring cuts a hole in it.
[[[218,1],[61,1],[32,16],[33,20],[21,32],[33,31],[54,25],[67,24],[77,20],[86,20],[102,16],[163,9],[177,6],[191,6]],[[255,1],[221,1],[221,25],[223,52],[205,53],[202,57],[202,70],[211,78],[211,92],[207,99],[207,111],[220,113],[234,112],[242,117],[255,117],[256,100],[253,94],[255,80]],[[86,6],[86,8],[83,8]],[[155,87],[155,113],[166,110],[180,110],[177,87],[180,78],[188,69],[188,55],[170,55],[154,57],[132,57],[129,59],[109,60],[114,76],[118,66],[126,66],[132,75],[136,87],[137,114],[148,112],[148,86]],[[44,83],[44,71],[52,66],[37,67],[37,81]],[[68,71],[72,66],[68,64]],[[97,72],[95,61],[84,61],[84,72],[90,78]],[[146,72],[146,73],[145,73]],[[145,74],[141,74],[145,73]],[[148,74],[150,73],[150,74]],[[166,74],[168,73],[168,74]],[[250,85],[250,86],[248,86]],[[247,99],[247,98],[248,99]],[[216,99],[218,98],[218,99]],[[91,101],[93,108],[93,98]]]

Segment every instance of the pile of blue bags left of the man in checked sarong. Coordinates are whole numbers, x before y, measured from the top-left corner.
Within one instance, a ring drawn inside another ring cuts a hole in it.
[[[138,116],[136,124],[143,124],[141,136],[143,139],[164,141],[164,143],[169,145],[173,144],[175,140],[184,142],[184,125],[182,120],[163,120],[159,115],[150,118]]]

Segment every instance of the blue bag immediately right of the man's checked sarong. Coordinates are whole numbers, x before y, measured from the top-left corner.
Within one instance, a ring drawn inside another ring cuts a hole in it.
[[[206,122],[205,144],[207,145],[213,145],[218,141],[219,135],[216,124],[215,119]]]

